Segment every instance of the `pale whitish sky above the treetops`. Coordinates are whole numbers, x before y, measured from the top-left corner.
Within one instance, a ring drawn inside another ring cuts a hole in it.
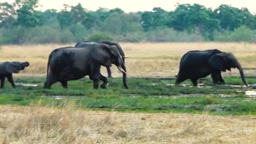
[[[0,2],[13,3],[14,0],[0,0]],[[256,13],[255,0],[39,0],[40,10],[57,9],[61,10],[63,4],[77,5],[81,3],[82,6],[88,10],[95,11],[99,7],[103,8],[121,8],[125,12],[137,11],[151,11],[154,7],[161,7],[166,11],[173,11],[176,3],[199,3],[206,7],[216,8],[221,4],[232,5],[233,7],[243,8],[246,7],[251,13]]]

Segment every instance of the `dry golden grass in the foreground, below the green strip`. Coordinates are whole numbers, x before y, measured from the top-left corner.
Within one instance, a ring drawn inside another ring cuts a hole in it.
[[[0,106],[0,142],[11,144],[252,144],[255,116],[144,114]]]

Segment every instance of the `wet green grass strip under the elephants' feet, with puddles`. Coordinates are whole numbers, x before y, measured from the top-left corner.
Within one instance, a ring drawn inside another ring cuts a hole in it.
[[[30,105],[40,101],[43,105],[60,107],[63,101],[74,101],[85,109],[115,109],[121,112],[186,112],[209,111],[216,115],[256,114],[256,101],[245,101],[245,91],[253,87],[232,87],[240,85],[240,77],[225,78],[227,85],[213,86],[211,78],[200,79],[199,83],[213,87],[193,87],[187,80],[186,86],[173,86],[175,79],[168,78],[128,78],[129,89],[123,88],[121,78],[109,79],[109,88],[93,89],[89,78],[68,82],[68,89],[56,83],[51,89],[43,89],[45,78],[20,78],[16,83],[33,83],[38,86],[12,88],[6,82],[0,89],[0,104]],[[254,77],[247,78],[256,83]],[[56,100],[52,96],[64,96]]]

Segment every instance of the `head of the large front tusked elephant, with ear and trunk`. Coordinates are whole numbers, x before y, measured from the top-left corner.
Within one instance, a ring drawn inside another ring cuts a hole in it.
[[[120,55],[117,46],[107,44],[95,44],[92,49],[92,57],[105,67],[111,67],[115,64],[120,72],[123,73],[123,85],[128,88],[126,83],[126,67],[123,57]]]

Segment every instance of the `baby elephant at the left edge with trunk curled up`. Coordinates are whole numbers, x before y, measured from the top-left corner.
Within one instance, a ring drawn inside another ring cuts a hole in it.
[[[13,82],[13,75],[12,73],[19,73],[20,70],[25,69],[25,67],[29,66],[29,62],[19,62],[19,61],[6,61],[0,62],[0,80],[1,80],[1,88],[5,83],[5,77],[11,83],[13,88],[15,88],[15,84]]]

